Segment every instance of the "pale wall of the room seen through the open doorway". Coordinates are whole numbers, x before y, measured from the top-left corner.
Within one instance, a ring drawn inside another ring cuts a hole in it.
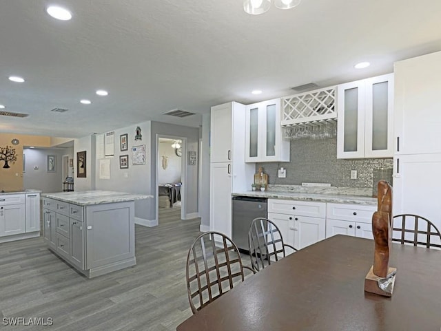
[[[167,160],[167,168],[163,169],[163,158]],[[160,141],[158,146],[158,183],[181,182],[182,157],[176,155],[170,141]]]

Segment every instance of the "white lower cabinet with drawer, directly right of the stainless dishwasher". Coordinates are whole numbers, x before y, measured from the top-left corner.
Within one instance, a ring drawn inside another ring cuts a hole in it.
[[[296,249],[325,239],[325,215],[323,202],[268,199],[269,220],[280,228],[284,242]]]

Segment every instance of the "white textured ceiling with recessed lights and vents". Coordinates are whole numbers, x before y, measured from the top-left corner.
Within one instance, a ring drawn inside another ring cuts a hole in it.
[[[48,4],[0,0],[0,104],[30,114],[1,116],[0,132],[79,138],[146,120],[198,127],[212,105],[385,74],[394,61],[441,50],[440,0],[302,0],[259,16],[241,0],[58,1],[72,11],[67,22],[49,17]],[[371,67],[354,70],[360,61]],[[94,94],[101,88],[109,96]],[[196,115],[162,115],[171,109]]]

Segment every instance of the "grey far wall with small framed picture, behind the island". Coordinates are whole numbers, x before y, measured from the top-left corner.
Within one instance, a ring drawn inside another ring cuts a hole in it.
[[[73,149],[23,149],[25,155],[25,172],[23,188],[37,189],[43,193],[63,191],[63,155],[72,158]],[[48,173],[48,155],[56,157],[56,171]],[[34,169],[38,167],[38,169]]]

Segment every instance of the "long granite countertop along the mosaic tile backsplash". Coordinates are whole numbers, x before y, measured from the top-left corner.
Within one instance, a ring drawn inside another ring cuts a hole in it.
[[[275,185],[269,186],[267,191],[243,191],[232,193],[232,195],[336,204],[377,205],[377,199],[372,197],[372,189],[370,188]]]

